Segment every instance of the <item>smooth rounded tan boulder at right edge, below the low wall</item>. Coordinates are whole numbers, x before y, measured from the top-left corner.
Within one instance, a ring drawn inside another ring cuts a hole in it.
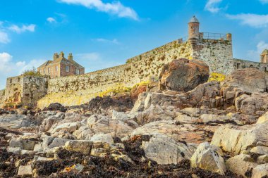
[[[226,78],[226,84],[250,93],[264,92],[268,89],[268,76],[255,68],[238,69]]]

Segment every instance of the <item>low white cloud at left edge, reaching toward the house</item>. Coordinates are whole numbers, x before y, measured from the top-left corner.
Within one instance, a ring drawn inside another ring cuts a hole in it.
[[[39,67],[44,63],[42,59],[33,59],[32,61],[14,61],[9,53],[0,53],[0,89],[6,86],[6,78],[20,75],[24,70]]]

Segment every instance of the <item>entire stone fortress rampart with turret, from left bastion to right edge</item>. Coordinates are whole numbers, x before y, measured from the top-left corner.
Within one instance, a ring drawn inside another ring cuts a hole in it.
[[[190,20],[189,37],[130,58],[126,64],[98,70],[84,75],[56,77],[11,77],[7,79],[5,94],[0,93],[0,106],[19,104],[44,108],[50,103],[75,106],[87,103],[109,89],[133,87],[140,82],[157,79],[162,66],[177,58],[205,61],[210,72],[229,75],[237,68],[258,68],[266,71],[267,63],[255,63],[233,58],[231,34],[199,32],[196,18]],[[3,93],[3,91],[2,91]],[[43,97],[44,96],[44,97]],[[4,98],[3,98],[4,97]]]

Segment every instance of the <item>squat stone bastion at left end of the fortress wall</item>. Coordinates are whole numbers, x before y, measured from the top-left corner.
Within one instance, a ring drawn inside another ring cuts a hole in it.
[[[6,80],[6,89],[0,94],[0,106],[34,107],[37,101],[47,94],[47,77],[17,76]]]

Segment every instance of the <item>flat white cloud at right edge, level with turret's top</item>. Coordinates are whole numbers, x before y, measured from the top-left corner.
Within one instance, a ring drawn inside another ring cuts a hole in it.
[[[240,20],[242,25],[249,25],[250,27],[267,27],[268,15],[258,15],[252,13],[240,13],[238,15],[226,15],[231,20]]]

